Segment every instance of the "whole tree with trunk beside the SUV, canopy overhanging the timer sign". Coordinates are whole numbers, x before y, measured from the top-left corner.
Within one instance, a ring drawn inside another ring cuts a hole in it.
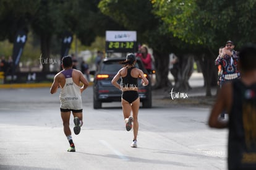
[[[152,13],[148,0],[103,0],[99,7],[103,14],[123,25],[127,30],[137,31],[137,41],[153,48],[156,62],[156,88],[170,87],[168,80],[169,54],[173,51],[175,38],[159,27],[161,20]],[[176,39],[177,40],[177,39]]]

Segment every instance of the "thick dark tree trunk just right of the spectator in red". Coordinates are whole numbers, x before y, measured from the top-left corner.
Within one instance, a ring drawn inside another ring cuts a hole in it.
[[[169,54],[159,53],[154,50],[153,56],[155,57],[156,68],[156,84],[153,88],[169,88],[173,87],[168,79],[169,74]]]

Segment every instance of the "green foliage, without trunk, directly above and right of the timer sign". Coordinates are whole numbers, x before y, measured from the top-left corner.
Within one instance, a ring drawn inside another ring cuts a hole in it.
[[[99,3],[103,14],[120,23],[125,30],[137,31],[137,41],[148,44],[154,50],[171,52],[171,34],[161,32],[161,20],[152,12],[148,0],[103,0]]]

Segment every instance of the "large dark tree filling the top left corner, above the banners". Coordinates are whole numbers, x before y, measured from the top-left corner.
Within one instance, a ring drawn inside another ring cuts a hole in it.
[[[40,37],[41,56],[50,56],[51,37],[62,31],[64,24],[60,5],[61,1],[25,0],[0,1],[1,3],[1,33],[0,38],[8,38],[13,42],[15,33],[19,29],[33,30]],[[38,54],[38,58],[40,54]],[[43,70],[49,71],[49,63],[43,64]]]

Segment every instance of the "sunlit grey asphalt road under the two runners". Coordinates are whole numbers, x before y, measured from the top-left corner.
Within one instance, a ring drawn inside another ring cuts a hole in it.
[[[0,89],[0,169],[226,169],[228,131],[207,127],[210,108],[142,108],[138,148],[130,148],[121,103],[94,110],[92,87],[84,92],[84,124],[69,153],[59,93]]]

